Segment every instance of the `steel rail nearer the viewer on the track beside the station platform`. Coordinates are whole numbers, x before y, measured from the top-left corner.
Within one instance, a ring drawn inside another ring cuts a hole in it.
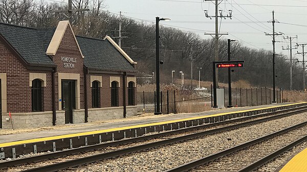
[[[181,141],[205,136],[205,135],[208,135],[208,134],[214,134],[214,133],[217,133],[217,132],[227,131],[227,130],[231,130],[231,129],[235,129],[235,128],[239,128],[239,127],[243,127],[243,126],[247,126],[247,125],[256,124],[256,123],[262,122],[262,121],[267,121],[267,120],[272,120],[272,119],[275,119],[275,118],[289,116],[289,115],[304,112],[306,110],[307,109],[302,109],[302,110],[298,110],[298,111],[294,111],[294,112],[289,112],[289,113],[286,113],[286,114],[280,114],[280,115],[271,116],[271,117],[267,117],[267,118],[248,121],[248,122],[236,124],[236,125],[233,125],[233,126],[227,126],[227,127],[203,131],[203,132],[199,132],[199,133],[193,133],[193,134],[189,134],[189,135],[185,135],[185,136],[180,136],[180,137],[176,137],[176,138],[170,138],[170,139],[161,140],[161,141],[157,141],[157,142],[142,144],[142,145],[133,146],[133,147],[122,149],[122,150],[102,153],[102,154],[93,155],[93,156],[89,156],[89,157],[83,157],[83,158],[79,158],[79,159],[75,159],[75,160],[68,160],[68,161],[65,161],[65,162],[60,162],[60,163],[51,164],[51,165],[47,165],[47,166],[32,168],[32,169],[28,169],[28,170],[24,170],[24,171],[46,171],[47,172],[47,171],[56,171],[56,170],[66,169],[68,167],[74,167],[74,166],[83,165],[83,164],[87,164],[87,163],[91,163],[91,162],[95,162],[95,161],[100,161],[100,160],[103,160],[103,159],[108,159],[108,158],[112,158],[112,157],[116,157],[116,156],[120,156],[120,155],[134,153],[134,152],[138,152],[138,151],[142,151],[142,150],[148,150],[148,149],[151,149],[151,148],[157,148],[158,146],[162,146],[162,145],[181,142]],[[114,142],[109,143],[109,145],[113,145],[112,143],[114,143]]]

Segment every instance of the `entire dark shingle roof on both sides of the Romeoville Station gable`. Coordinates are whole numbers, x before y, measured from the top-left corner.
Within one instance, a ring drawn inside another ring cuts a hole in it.
[[[46,55],[55,30],[55,28],[34,29],[0,23],[0,35],[30,66],[56,66],[51,57]],[[109,40],[81,36],[76,36],[76,39],[84,56],[84,65],[87,68],[136,72],[133,64]]]

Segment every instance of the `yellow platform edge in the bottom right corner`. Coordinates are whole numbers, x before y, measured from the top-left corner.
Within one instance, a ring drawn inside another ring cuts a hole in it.
[[[307,171],[307,149],[295,155],[279,172],[299,172]]]

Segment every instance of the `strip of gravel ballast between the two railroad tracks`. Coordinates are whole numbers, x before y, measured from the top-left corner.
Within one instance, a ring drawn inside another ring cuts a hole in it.
[[[212,134],[66,171],[164,171],[302,122],[307,113]]]

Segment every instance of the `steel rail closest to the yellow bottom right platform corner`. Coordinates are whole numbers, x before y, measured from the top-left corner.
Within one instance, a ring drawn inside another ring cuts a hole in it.
[[[300,139],[297,139],[295,141],[293,141],[292,143],[286,145],[286,146],[283,146],[281,149],[267,155],[266,157],[264,158],[261,158],[259,159],[258,161],[238,170],[237,172],[248,172],[248,171],[253,171],[254,169],[257,169],[259,168],[261,165],[264,165],[266,164],[267,162],[269,162],[270,160],[276,158],[277,156],[279,156],[280,154],[292,149],[294,146],[296,146],[297,144],[300,144],[302,142],[304,142],[305,140],[307,139],[307,135],[300,138]]]

